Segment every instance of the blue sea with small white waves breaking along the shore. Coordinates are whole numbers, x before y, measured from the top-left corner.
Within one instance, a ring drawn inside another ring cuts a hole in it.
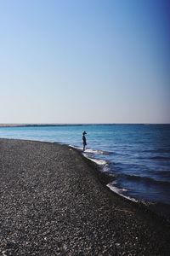
[[[131,201],[161,206],[161,211],[170,209],[170,125],[27,125],[0,127],[0,137],[82,150],[82,131],[88,143],[82,154],[113,177],[107,184],[111,190]]]

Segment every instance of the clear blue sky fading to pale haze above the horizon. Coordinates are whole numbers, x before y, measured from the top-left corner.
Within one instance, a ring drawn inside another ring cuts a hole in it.
[[[170,2],[0,0],[0,123],[170,123]]]

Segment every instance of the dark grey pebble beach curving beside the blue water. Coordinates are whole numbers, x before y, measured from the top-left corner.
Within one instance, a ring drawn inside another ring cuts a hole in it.
[[[0,139],[0,255],[169,255],[170,224],[76,149]]]

